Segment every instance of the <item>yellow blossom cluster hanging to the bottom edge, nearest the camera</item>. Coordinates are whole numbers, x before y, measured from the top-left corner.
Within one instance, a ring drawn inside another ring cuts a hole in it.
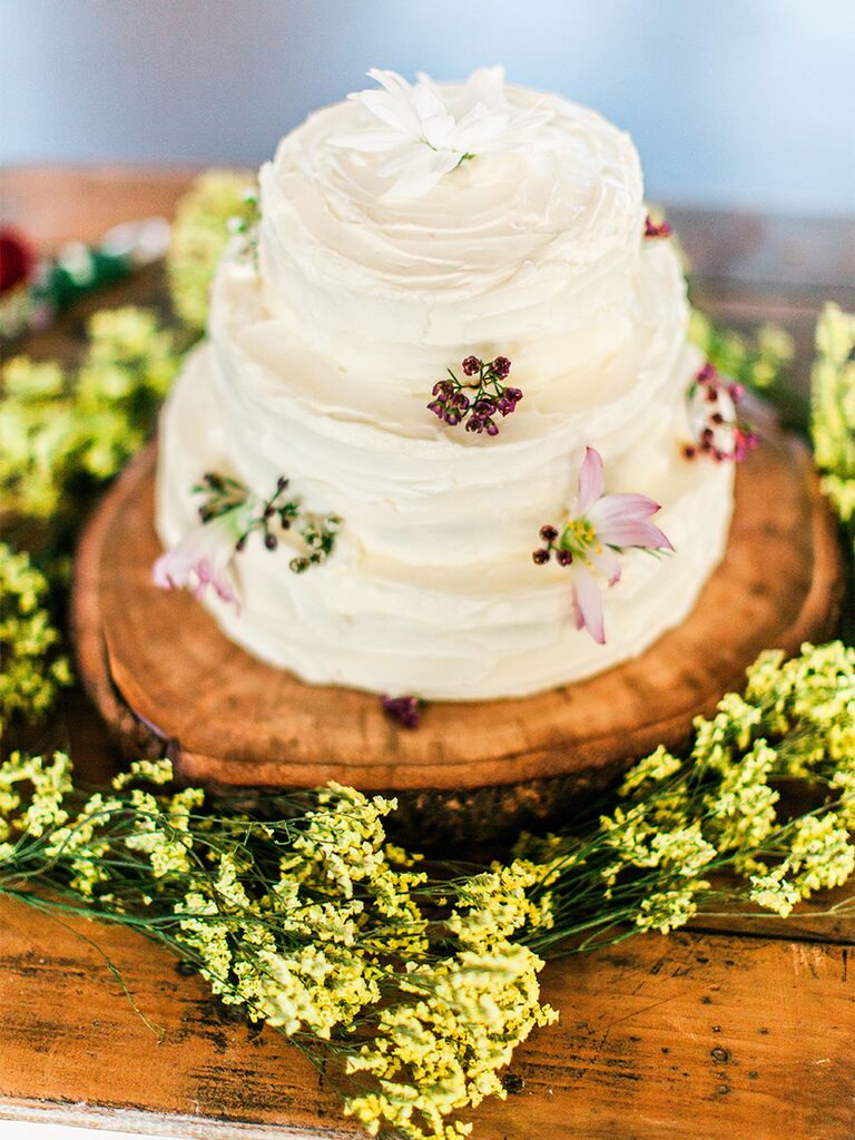
[[[498,1070],[536,1026],[557,1018],[539,1002],[543,959],[516,940],[552,923],[548,896],[535,903],[528,894],[542,879],[542,869],[516,860],[455,886],[443,927],[457,936],[456,952],[406,962],[373,1040],[348,1061],[349,1073],[376,1081],[345,1101],[372,1135],[391,1126],[413,1140],[454,1140],[470,1125],[447,1123],[450,1113],[506,1096]]]

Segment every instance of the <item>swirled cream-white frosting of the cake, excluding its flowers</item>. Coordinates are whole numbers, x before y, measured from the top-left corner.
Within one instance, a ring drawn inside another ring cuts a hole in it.
[[[643,244],[637,155],[598,115],[552,112],[530,152],[484,155],[417,198],[384,198],[374,155],[311,116],[261,171],[260,272],[223,262],[210,341],[164,410],[157,526],[194,524],[190,487],[222,470],[263,495],[279,474],[344,519],[331,561],[250,543],[234,640],[310,682],[427,699],[518,697],[640,653],[682,621],[724,549],[732,472],[686,464],[684,394],[699,366],[669,243]],[[513,360],[524,392],[495,439],[425,408],[464,356]],[[633,552],[605,592],[606,645],[572,620],[561,568],[536,567],[586,445],[608,490],[657,498],[676,547]]]

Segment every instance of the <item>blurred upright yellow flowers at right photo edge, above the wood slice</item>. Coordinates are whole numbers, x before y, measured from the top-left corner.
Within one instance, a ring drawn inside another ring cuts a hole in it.
[[[826,304],[816,325],[811,431],[822,486],[855,524],[855,314]]]

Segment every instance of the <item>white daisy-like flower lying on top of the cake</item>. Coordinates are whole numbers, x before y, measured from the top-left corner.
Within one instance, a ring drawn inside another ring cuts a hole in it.
[[[394,178],[389,197],[418,197],[449,171],[479,154],[529,149],[537,131],[553,117],[540,107],[516,107],[505,93],[504,67],[481,67],[456,91],[441,90],[429,75],[415,85],[392,71],[372,67],[368,76],[383,90],[348,98],[380,121],[329,139],[329,145],[365,154],[385,154],[377,173]]]

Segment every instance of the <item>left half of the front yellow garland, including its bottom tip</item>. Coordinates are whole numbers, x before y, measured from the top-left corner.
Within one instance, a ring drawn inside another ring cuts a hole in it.
[[[552,921],[548,895],[530,897],[543,869],[431,881],[386,842],[392,800],[331,784],[266,822],[171,776],[166,760],[138,762],[80,800],[67,757],[13,756],[0,890],[38,868],[43,886],[162,938],[250,1019],[331,1049],[370,1133],[464,1135],[449,1115],[504,1096],[498,1069],[556,1017],[523,943]]]

